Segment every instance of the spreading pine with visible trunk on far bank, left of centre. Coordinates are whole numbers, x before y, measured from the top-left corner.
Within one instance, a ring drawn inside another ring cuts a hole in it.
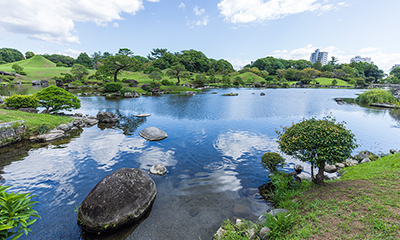
[[[132,51],[122,48],[115,56],[108,56],[101,61],[98,72],[104,76],[113,76],[114,82],[117,82],[118,74],[124,71],[137,71],[140,68],[140,62],[130,57]]]

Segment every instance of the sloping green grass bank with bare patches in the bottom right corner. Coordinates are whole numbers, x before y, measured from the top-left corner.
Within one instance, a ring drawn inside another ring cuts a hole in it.
[[[400,153],[343,171],[325,186],[303,181],[288,188],[273,179],[280,191],[275,207],[289,213],[264,224],[225,222],[221,239],[247,239],[246,231],[263,226],[272,230],[269,239],[400,239]]]

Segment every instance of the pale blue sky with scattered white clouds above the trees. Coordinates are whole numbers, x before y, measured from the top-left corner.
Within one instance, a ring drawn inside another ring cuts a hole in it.
[[[316,48],[342,63],[400,64],[397,0],[0,0],[0,47],[36,54],[202,51],[235,68]]]

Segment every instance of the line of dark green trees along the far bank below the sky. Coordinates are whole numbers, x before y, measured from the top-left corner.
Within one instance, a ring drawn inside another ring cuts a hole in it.
[[[16,49],[1,48],[0,64],[28,59],[34,55],[31,51],[26,52],[24,56]],[[160,80],[162,71],[167,69],[166,73],[170,77],[176,78],[179,84],[182,78],[190,78],[190,72],[203,73],[206,76],[215,76],[216,74],[226,76],[235,72],[229,61],[208,58],[203,52],[193,49],[172,53],[165,48],[155,48],[146,57],[135,55],[128,48],[121,48],[115,54],[99,51],[89,56],[87,53],[81,53],[76,59],[61,54],[44,54],[42,56],[56,63],[58,67],[73,67],[79,64],[86,69],[95,69],[97,72],[93,78],[98,80],[116,81],[117,75],[121,71],[143,71],[149,76],[151,75],[153,80]],[[314,79],[319,77],[338,78],[357,85],[383,82],[400,83],[400,68],[394,68],[390,75],[384,78],[384,72],[374,63],[339,64],[335,57],[332,57],[328,64],[323,66],[319,61],[312,64],[307,60],[286,60],[268,56],[244,66],[239,72],[252,72],[270,83],[301,81],[309,84],[316,83]],[[242,81],[236,79],[234,82],[241,84]]]

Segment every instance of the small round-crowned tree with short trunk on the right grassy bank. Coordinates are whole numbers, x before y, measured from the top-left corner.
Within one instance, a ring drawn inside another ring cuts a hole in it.
[[[283,153],[311,163],[311,176],[316,184],[324,184],[326,164],[344,162],[357,147],[354,134],[331,117],[303,119],[283,127],[277,134]],[[316,177],[314,167],[318,167]]]

